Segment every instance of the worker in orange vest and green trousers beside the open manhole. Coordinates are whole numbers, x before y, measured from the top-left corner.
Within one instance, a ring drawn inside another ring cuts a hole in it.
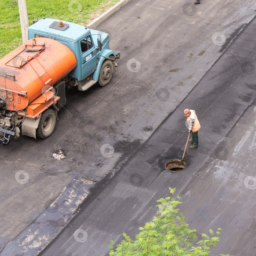
[[[200,129],[200,124],[196,116],[195,110],[185,109],[184,116],[187,117],[188,129],[192,134],[192,139],[189,140],[190,143],[193,143],[190,148],[198,147],[198,130]]]

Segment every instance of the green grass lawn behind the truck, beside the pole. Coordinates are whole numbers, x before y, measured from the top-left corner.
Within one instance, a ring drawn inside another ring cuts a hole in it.
[[[103,12],[119,0],[26,0],[29,25],[33,20],[55,18],[86,24],[95,11]],[[0,1],[0,58],[22,44],[18,0]]]

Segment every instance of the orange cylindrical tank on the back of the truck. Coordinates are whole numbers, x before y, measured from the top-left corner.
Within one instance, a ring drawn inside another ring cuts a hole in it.
[[[0,60],[0,98],[5,109],[25,111],[45,88],[75,67],[75,55],[67,46],[44,37],[30,39]]]

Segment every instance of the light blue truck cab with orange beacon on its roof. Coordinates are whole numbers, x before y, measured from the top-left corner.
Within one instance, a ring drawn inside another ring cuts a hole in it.
[[[29,39],[48,37],[66,45],[76,57],[76,68],[64,78],[67,86],[87,90],[97,81],[100,86],[109,83],[113,64],[120,53],[109,49],[107,33],[57,19],[43,18],[28,29]]]

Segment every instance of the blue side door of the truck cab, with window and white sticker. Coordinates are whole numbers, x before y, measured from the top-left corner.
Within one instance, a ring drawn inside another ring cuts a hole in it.
[[[91,75],[96,68],[97,51],[91,35],[87,35],[80,41],[82,80]]]

